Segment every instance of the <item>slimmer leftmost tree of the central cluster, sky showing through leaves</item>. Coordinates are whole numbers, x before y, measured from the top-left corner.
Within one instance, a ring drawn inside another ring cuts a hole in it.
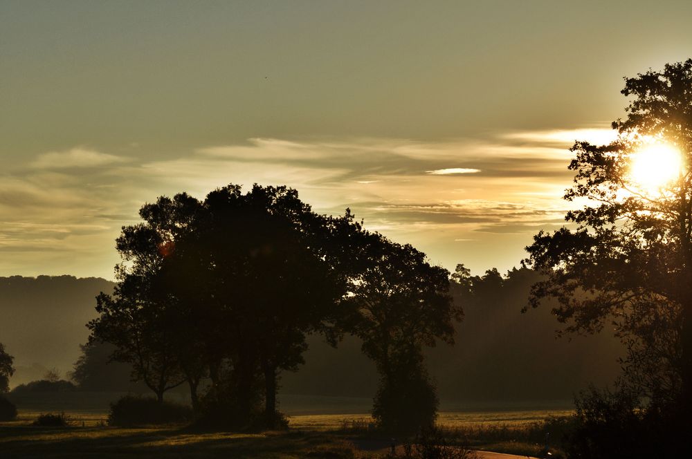
[[[113,295],[97,297],[100,317],[88,325],[90,339],[115,345],[112,359],[131,364],[134,380],[142,380],[159,402],[165,391],[187,378],[171,346],[176,329],[170,323],[177,317],[152,285],[198,209],[199,201],[186,194],[159,198],[140,209],[145,223],[123,227],[116,241],[122,257],[116,267],[118,285]]]

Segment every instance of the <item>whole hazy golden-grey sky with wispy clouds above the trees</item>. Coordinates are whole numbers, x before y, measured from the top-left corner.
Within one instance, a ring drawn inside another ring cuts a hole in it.
[[[574,140],[692,57],[689,1],[0,0],[0,276],[113,278],[157,196],[289,185],[432,263],[517,266]]]

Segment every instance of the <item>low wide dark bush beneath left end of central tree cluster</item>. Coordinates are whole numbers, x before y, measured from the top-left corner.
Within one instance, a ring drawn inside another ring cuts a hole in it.
[[[163,402],[152,397],[125,395],[111,403],[108,424],[132,427],[147,424],[181,424],[192,420],[192,408],[187,405]]]

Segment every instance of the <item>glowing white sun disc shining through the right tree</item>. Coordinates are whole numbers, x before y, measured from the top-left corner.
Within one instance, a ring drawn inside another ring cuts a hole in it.
[[[680,176],[682,154],[667,143],[646,144],[632,154],[630,180],[642,191],[655,193]]]

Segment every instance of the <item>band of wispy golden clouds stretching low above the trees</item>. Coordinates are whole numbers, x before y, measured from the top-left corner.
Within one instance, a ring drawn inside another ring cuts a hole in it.
[[[447,142],[262,138],[155,161],[80,147],[48,152],[0,175],[0,274],[109,277],[113,239],[138,220],[143,203],[255,182],[294,187],[320,213],[350,207],[366,227],[448,268],[509,267],[537,229],[561,224],[560,197],[572,178],[567,148],[585,133]]]

